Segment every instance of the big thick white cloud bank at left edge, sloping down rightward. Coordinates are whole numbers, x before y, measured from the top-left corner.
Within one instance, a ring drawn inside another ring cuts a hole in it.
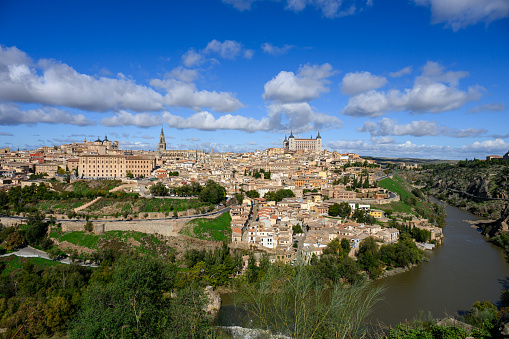
[[[1,46],[0,99],[95,111],[162,108],[159,93],[133,81],[96,79],[66,64],[46,59],[33,66],[24,52],[16,47]]]

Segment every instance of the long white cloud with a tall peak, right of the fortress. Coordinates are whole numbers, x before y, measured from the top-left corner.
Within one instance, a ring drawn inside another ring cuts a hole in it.
[[[377,117],[390,111],[418,113],[441,113],[463,107],[478,100],[484,88],[471,86],[466,91],[458,88],[459,80],[468,72],[445,71],[435,62],[428,62],[423,72],[414,80],[414,86],[403,91],[388,92],[371,90],[351,97],[344,114]]]

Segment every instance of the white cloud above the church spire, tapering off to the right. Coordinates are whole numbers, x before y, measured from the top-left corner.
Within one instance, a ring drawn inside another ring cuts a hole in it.
[[[176,79],[152,79],[150,85],[167,91],[163,102],[168,106],[189,107],[196,111],[209,107],[218,112],[232,112],[244,107],[233,93],[198,91],[194,84]]]

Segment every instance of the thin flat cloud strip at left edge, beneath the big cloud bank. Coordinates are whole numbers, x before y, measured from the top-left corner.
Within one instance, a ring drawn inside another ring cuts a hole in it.
[[[38,123],[95,125],[95,122],[90,121],[83,114],[71,114],[56,108],[46,107],[23,111],[16,105],[0,104],[0,125],[35,125]]]

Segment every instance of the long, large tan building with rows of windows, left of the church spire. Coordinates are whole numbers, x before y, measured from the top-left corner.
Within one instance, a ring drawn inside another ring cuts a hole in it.
[[[141,155],[82,155],[79,157],[78,175],[82,178],[125,178],[128,172],[134,177],[148,177],[156,166],[155,158]]]

